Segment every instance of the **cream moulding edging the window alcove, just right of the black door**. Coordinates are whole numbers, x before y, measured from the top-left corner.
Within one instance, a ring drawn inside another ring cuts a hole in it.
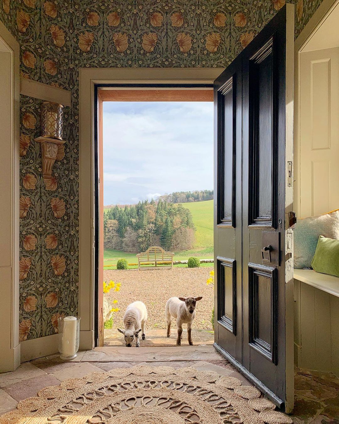
[[[308,41],[314,36],[320,26],[325,22],[328,16],[331,14],[333,9],[339,4],[339,0],[323,0],[320,6],[312,15],[311,19],[307,22],[303,31],[299,34],[295,40],[295,95],[294,95],[294,126],[295,126],[295,137],[294,137],[294,210],[296,216],[299,216],[300,212],[300,54],[308,43]]]

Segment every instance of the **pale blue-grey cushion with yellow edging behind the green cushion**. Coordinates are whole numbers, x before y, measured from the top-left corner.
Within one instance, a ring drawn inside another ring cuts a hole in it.
[[[294,268],[311,266],[320,235],[339,239],[339,209],[297,219],[294,230]]]

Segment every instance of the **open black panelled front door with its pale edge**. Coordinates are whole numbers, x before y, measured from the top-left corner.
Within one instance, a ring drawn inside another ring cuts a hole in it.
[[[293,42],[286,5],[214,84],[215,346],[293,407]]]

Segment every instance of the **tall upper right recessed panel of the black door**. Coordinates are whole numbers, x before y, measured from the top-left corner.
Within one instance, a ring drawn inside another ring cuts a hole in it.
[[[250,125],[249,225],[275,222],[275,86],[273,39],[248,62],[248,113]]]

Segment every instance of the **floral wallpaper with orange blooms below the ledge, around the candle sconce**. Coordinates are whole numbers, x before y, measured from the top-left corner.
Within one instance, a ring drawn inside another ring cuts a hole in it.
[[[42,179],[41,147],[34,142],[40,103],[20,99],[21,341],[57,332],[58,317],[76,314],[78,305],[78,152],[67,142],[52,178]],[[64,108],[66,122],[69,112]],[[68,139],[69,126],[64,131]]]

